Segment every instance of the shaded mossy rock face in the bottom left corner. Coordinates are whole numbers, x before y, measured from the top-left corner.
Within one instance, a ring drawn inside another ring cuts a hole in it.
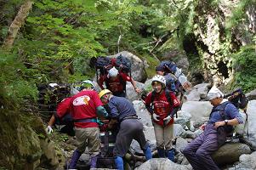
[[[0,168],[55,168],[60,153],[48,139],[38,116],[0,109]]]

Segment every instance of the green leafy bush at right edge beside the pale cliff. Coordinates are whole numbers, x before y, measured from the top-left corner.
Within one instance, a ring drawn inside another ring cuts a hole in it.
[[[255,47],[245,46],[233,54],[235,69],[234,88],[241,87],[245,92],[256,88],[256,52]]]

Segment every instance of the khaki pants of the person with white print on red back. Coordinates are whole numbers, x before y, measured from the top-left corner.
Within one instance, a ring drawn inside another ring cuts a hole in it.
[[[97,156],[100,153],[100,129],[99,127],[79,128],[75,127],[77,137],[77,150],[84,152],[86,146],[91,156]]]

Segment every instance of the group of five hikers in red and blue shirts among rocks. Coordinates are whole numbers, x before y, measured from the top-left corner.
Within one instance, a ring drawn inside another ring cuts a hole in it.
[[[161,68],[157,68],[156,71],[161,71]],[[151,115],[154,126],[158,156],[168,157],[169,160],[174,161],[174,115],[179,111],[180,102],[175,96],[173,82],[169,82],[170,78],[166,78],[164,74],[159,73],[152,78],[152,91],[145,97],[145,107]],[[136,88],[133,78],[119,73],[113,67],[105,77],[101,77],[99,85],[102,90],[99,94],[94,90],[94,83],[87,80],[82,82],[78,94],[65,99],[58,105],[57,116],[61,117],[66,112],[70,112],[75,126],[78,145],[71,157],[70,169],[76,168],[77,161],[86,146],[91,154],[91,168],[96,167],[100,154],[98,117],[110,118],[107,129],[118,125],[113,150],[117,169],[123,169],[123,157],[128,152],[133,139],[138,141],[146,160],[152,158],[151,148],[143,133],[143,124],[139,122],[133,104],[125,98],[125,86],[122,82],[127,81],[132,82],[135,92],[139,93],[140,89]],[[106,88],[103,87],[103,82]],[[219,127],[233,126],[243,122],[236,107],[222,97],[223,94],[216,87],[209,91],[208,99],[213,105],[213,111],[208,124],[202,126],[203,133],[183,150],[183,154],[196,170],[219,169],[211,158],[213,151],[218,150],[219,146],[225,142],[225,140],[218,142]],[[104,105],[108,105],[109,111],[105,110]],[[222,105],[225,105],[224,111],[219,110]],[[53,131],[54,119],[55,117],[52,116],[48,122],[48,133]],[[221,135],[224,135],[225,139],[226,133],[221,133]]]

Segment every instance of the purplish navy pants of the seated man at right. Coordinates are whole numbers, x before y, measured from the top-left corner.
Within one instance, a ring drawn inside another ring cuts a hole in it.
[[[217,130],[208,124],[203,133],[185,147],[182,153],[195,170],[219,170],[211,155],[218,150]]]

